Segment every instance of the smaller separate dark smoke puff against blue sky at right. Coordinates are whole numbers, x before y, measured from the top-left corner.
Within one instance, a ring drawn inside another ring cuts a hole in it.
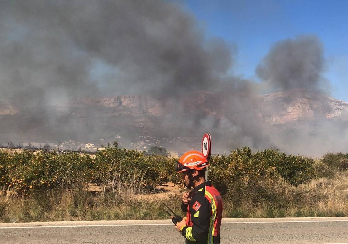
[[[256,74],[275,91],[321,90],[323,71],[324,49],[315,36],[277,42],[256,68]]]

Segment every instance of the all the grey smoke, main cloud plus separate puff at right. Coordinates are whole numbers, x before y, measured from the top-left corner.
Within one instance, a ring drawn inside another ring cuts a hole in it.
[[[112,142],[122,135],[128,146],[156,134],[180,137],[178,150],[183,151],[190,145],[187,138],[196,137],[199,144],[200,136],[210,132],[214,152],[241,146],[299,152],[301,134],[282,138],[264,123],[268,118],[256,94],[262,85],[227,75],[234,48],[219,38],[208,40],[195,18],[173,2],[0,1],[0,55],[0,105],[7,102],[20,110],[0,115],[5,141]],[[307,36],[277,43],[257,73],[271,91],[320,90],[323,69],[322,44]],[[196,91],[215,93],[205,98]],[[112,106],[77,102],[123,94],[144,97],[138,108],[121,115]],[[141,110],[150,103],[145,94],[165,112],[155,117]],[[194,106],[199,102],[200,110]],[[281,109],[265,110],[270,117]]]

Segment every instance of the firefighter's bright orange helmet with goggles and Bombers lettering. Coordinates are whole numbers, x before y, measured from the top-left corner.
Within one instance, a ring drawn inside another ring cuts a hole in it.
[[[176,162],[175,171],[182,172],[190,169],[202,170],[208,165],[208,160],[204,157],[203,153],[189,151],[184,153],[179,161]]]

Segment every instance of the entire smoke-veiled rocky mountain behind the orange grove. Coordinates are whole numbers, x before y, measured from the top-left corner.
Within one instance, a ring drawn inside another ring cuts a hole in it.
[[[314,136],[319,142],[339,136],[335,128],[348,128],[348,102],[302,89],[263,95],[197,91],[179,98],[135,94],[80,99],[47,110],[56,117],[37,119],[37,114],[1,103],[1,135],[18,132],[20,142],[41,138],[105,145],[117,140],[128,148],[158,145],[182,152],[197,149],[201,134],[209,132],[221,144],[214,145],[224,150],[251,146],[295,151],[303,138]]]

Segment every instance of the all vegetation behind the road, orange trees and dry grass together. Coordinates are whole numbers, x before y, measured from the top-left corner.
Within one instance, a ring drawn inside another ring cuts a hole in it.
[[[0,151],[0,221],[167,219],[164,202],[182,214],[180,192],[158,193],[163,183],[182,185],[176,160],[117,143],[95,157]],[[212,156],[210,164],[224,217],[348,216],[348,154],[314,160],[243,147]]]

